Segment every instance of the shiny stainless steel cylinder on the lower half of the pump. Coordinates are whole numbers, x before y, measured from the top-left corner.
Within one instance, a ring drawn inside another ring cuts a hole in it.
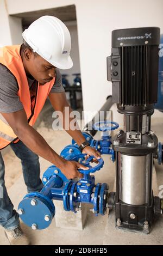
[[[149,155],[120,154],[120,199],[126,204],[142,205],[148,202]],[[151,197],[151,193],[150,193]]]

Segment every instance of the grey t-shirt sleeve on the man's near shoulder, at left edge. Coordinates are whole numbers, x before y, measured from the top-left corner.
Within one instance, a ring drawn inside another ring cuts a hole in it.
[[[18,84],[12,73],[0,64],[0,112],[12,113],[23,109],[18,92]]]

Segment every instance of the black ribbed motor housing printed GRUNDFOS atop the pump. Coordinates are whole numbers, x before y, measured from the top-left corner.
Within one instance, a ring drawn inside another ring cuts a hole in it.
[[[112,81],[113,102],[122,106],[156,103],[159,41],[160,28],[157,27],[112,31],[108,80]]]

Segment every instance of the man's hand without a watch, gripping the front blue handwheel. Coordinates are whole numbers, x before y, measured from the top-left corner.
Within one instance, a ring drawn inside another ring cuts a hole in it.
[[[83,174],[78,172],[78,169],[88,170],[89,167],[83,166],[83,164],[76,161],[64,161],[64,165],[60,168],[61,172],[67,179],[83,178]]]

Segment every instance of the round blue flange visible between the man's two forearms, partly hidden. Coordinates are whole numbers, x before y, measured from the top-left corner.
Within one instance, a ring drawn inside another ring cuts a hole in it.
[[[60,153],[60,156],[66,160],[70,160],[71,157],[81,154],[78,145],[67,145]]]

